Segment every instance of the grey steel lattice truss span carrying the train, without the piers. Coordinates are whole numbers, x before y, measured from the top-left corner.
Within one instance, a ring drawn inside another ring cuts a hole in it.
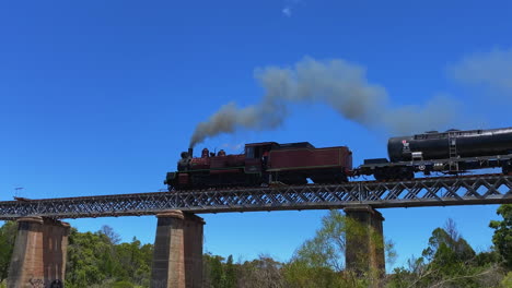
[[[353,205],[374,208],[512,203],[512,176],[480,175],[408,181],[354,181],[344,184],[152,192],[4,201],[0,219],[25,216],[90,218],[191,213],[328,209]]]

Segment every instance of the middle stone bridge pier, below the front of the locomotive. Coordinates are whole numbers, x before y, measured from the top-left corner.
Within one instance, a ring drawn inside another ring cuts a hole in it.
[[[181,211],[156,217],[151,288],[202,287],[203,219]]]

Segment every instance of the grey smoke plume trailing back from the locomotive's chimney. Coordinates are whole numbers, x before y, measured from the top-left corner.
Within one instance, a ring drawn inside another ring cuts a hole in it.
[[[293,69],[269,67],[256,71],[266,94],[257,105],[238,108],[222,106],[210,119],[197,125],[190,147],[207,137],[238,129],[268,130],[279,127],[292,103],[322,103],[344,118],[369,129],[391,133],[412,133],[446,125],[456,104],[445,96],[422,106],[394,108],[384,87],[371,84],[365,69],[345,60],[316,61],[304,58]]]

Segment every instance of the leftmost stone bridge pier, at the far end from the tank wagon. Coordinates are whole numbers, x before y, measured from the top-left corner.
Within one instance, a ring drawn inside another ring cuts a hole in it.
[[[68,235],[67,223],[44,217],[18,219],[8,288],[63,287]]]

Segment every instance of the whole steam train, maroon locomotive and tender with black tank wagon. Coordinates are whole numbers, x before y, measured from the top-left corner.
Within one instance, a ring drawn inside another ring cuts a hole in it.
[[[410,180],[416,172],[462,175],[485,168],[512,172],[512,128],[429,131],[391,137],[387,158],[365,159],[352,167],[347,146],[316,148],[309,142],[245,145],[244,154],[226,155],[202,149],[182,153],[177,171],[167,172],[168,190],[258,187],[271,183],[342,183],[349,177],[373,176],[377,181]]]

